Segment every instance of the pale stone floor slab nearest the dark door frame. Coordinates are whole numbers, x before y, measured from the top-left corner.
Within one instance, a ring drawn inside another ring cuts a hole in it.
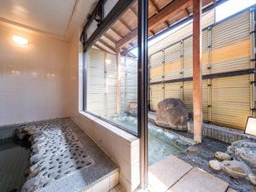
[[[166,191],[193,167],[176,156],[170,155],[148,169],[148,183],[158,192]]]

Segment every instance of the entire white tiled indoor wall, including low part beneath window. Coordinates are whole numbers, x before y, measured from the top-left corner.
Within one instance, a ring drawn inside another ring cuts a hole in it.
[[[15,44],[13,35],[27,38],[29,44]],[[71,116],[119,166],[119,183],[125,191],[134,191],[139,184],[137,137],[79,113],[83,74],[79,45],[79,30],[65,43],[0,24],[0,125]]]

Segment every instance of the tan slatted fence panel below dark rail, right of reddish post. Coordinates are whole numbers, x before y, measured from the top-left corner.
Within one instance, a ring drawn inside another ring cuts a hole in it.
[[[212,122],[243,130],[250,111],[249,75],[212,79]]]

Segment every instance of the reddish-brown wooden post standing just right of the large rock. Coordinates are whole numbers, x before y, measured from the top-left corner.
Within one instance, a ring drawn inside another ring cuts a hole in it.
[[[201,88],[201,0],[193,0],[193,108],[194,140],[202,137],[202,88]]]

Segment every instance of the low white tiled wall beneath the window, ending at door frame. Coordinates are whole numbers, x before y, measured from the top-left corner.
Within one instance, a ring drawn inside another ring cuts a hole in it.
[[[119,183],[125,191],[137,189],[139,180],[139,139],[90,114],[80,113],[73,120],[119,166]]]

